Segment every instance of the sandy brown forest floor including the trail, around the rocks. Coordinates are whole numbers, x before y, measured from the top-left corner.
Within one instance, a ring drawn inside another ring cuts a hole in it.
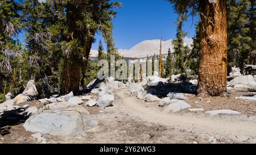
[[[112,107],[86,107],[98,125],[73,139],[47,138],[47,143],[256,143],[256,102],[236,99],[255,92],[232,91],[229,97],[197,98],[186,102],[205,111],[228,109],[240,115],[210,116],[204,111],[164,112],[157,103],[138,100],[127,90],[114,92]],[[40,108],[36,101],[26,102]],[[0,143],[38,143],[23,123],[11,126]]]

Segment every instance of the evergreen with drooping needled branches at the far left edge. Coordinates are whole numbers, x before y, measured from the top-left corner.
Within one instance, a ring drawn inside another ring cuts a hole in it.
[[[3,91],[5,83],[7,89],[11,87],[9,83],[16,86],[15,74],[20,64],[22,49],[19,40],[15,40],[14,36],[22,28],[19,15],[21,9],[16,1],[0,1],[0,92]]]

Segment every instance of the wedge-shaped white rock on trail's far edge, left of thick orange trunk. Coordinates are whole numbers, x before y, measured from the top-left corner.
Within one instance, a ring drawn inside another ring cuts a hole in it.
[[[177,100],[175,103],[172,103],[166,106],[166,108],[164,108],[164,111],[179,112],[187,108],[191,108],[191,106],[188,103],[186,103],[184,100]]]

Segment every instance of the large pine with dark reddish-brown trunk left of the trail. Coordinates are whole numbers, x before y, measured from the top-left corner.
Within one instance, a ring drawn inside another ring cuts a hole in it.
[[[114,49],[112,19],[116,16],[114,8],[120,3],[109,0],[67,1],[67,34],[63,43],[64,64],[61,94],[73,91],[79,93],[84,86],[86,65],[96,31],[102,32],[108,52]],[[80,78],[82,70],[82,78]],[[79,82],[81,81],[81,83]]]

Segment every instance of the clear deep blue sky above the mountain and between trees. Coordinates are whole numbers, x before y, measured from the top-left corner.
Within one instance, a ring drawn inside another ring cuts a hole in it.
[[[113,20],[113,36],[115,45],[119,49],[130,49],[134,45],[144,40],[174,39],[176,35],[177,19],[172,5],[166,0],[119,0],[123,4],[121,9],[117,9],[117,18]],[[184,23],[183,30],[188,33],[188,37],[195,35],[195,23],[197,16],[189,18]],[[23,35],[19,39],[23,40]],[[101,34],[97,34],[96,42],[92,49],[98,49],[98,42],[103,41]],[[104,44],[105,46],[105,44]]]

